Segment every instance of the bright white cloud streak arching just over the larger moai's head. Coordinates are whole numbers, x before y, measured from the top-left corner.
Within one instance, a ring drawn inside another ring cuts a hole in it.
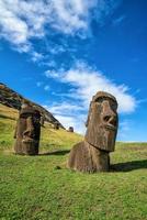
[[[75,88],[75,92],[70,92],[70,97],[80,99],[84,108],[88,108],[91,97],[100,90],[108,91],[116,97],[118,111],[122,113],[133,112],[136,108],[137,101],[135,97],[129,95],[127,86],[116,85],[103,73],[92,69],[84,63],[77,63],[75,67],[67,72],[60,69],[60,72],[46,72],[45,75],[70,84]]]

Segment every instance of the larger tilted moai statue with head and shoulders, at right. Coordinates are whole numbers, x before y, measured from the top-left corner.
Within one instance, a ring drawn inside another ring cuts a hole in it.
[[[79,172],[108,172],[110,152],[114,151],[117,133],[117,101],[112,95],[99,91],[93,96],[87,120],[84,141],[70,151],[68,167]]]

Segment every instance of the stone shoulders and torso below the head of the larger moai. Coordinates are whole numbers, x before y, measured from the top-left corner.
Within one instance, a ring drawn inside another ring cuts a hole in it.
[[[76,144],[69,154],[68,167],[79,172],[108,172],[110,169],[109,152],[99,150],[83,141]]]

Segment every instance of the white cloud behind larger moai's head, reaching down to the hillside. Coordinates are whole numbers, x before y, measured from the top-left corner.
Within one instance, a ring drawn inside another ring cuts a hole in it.
[[[104,76],[101,72],[89,67],[84,63],[77,63],[69,70],[60,69],[58,72],[47,70],[46,77],[52,77],[63,84],[70,86],[67,94],[60,94],[59,98],[66,98],[66,101],[59,99],[58,103],[49,107],[50,112],[55,114],[68,128],[72,125],[79,133],[84,133],[88,108],[93,95],[103,90],[116,97],[118,111],[121,113],[133,112],[137,106],[137,100],[129,94],[125,85],[116,85]],[[121,131],[126,131],[128,123],[121,122]]]

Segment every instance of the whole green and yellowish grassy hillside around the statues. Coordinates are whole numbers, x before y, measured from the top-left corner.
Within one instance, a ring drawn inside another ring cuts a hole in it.
[[[112,170],[67,169],[68,152],[82,138],[49,124],[42,129],[41,154],[13,154],[18,112],[0,106],[0,219],[146,220],[147,144],[117,143]]]

